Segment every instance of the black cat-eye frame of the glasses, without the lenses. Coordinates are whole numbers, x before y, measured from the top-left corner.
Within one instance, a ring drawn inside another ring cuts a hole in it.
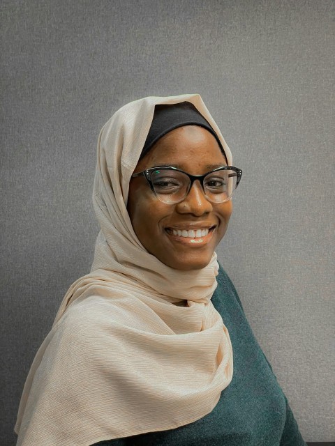
[[[209,199],[209,198],[207,197],[207,195],[206,195],[206,191],[204,190],[204,178],[205,178],[207,175],[212,174],[213,172],[216,172],[216,171],[218,171],[218,170],[233,170],[233,171],[235,171],[235,174],[236,174],[236,176],[237,176],[237,180],[236,180],[236,185],[235,185],[235,187],[234,187],[234,190],[237,189],[237,186],[239,185],[239,182],[240,182],[241,177],[242,177],[242,171],[241,171],[241,169],[239,169],[238,167],[234,167],[234,166],[222,166],[222,167],[217,167],[216,169],[211,170],[211,171],[207,172],[207,173],[204,174],[204,175],[191,175],[191,174],[188,174],[187,172],[185,172],[184,170],[181,170],[181,169],[178,169],[177,167],[172,167],[172,166],[156,166],[156,167],[150,167],[149,169],[145,169],[145,170],[142,171],[142,172],[137,172],[136,174],[133,174],[133,175],[131,176],[131,178],[136,178],[137,176],[144,176],[144,178],[146,178],[146,179],[147,179],[147,182],[149,183],[149,186],[150,186],[150,188],[151,188],[151,191],[154,192],[154,194],[155,194],[155,196],[158,198],[158,200],[159,200],[160,198],[159,198],[158,195],[156,194],[154,185],[152,184],[152,181],[151,181],[151,174],[152,174],[153,171],[155,171],[155,170],[157,170],[157,169],[161,169],[161,170],[162,170],[162,169],[164,169],[164,170],[168,170],[168,169],[170,169],[170,170],[179,171],[179,172],[181,172],[182,174],[187,175],[188,178],[190,178],[190,180],[191,180],[191,183],[190,183],[190,185],[188,186],[188,191],[186,192],[185,197],[184,197],[182,200],[174,201],[172,204],[180,203],[181,201],[183,201],[183,200],[187,197],[188,192],[190,192],[190,190],[191,190],[191,188],[192,188],[192,185],[193,185],[193,183],[195,182],[195,180],[199,180],[199,181],[200,181],[202,190],[204,191],[204,196],[205,196],[207,199]],[[230,176],[234,176],[235,174],[231,174]],[[232,195],[229,197],[229,199],[230,199],[231,197],[232,197]],[[224,201],[214,201],[214,203],[225,203],[225,201],[228,201],[229,199],[224,200]],[[163,201],[163,200],[161,200],[161,201]],[[209,201],[211,201],[211,200],[209,200]],[[163,201],[163,203],[168,203],[168,201]]]

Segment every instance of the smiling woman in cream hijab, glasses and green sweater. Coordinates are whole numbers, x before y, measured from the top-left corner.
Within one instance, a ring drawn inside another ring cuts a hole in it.
[[[94,262],[36,354],[17,445],[306,445],[216,260],[240,179],[200,95],[104,125]]]

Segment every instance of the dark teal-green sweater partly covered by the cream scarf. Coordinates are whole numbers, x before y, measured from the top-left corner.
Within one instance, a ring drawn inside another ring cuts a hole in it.
[[[306,446],[288,400],[246,320],[237,291],[221,266],[217,281],[211,301],[230,334],[234,373],[215,408],[200,420],[176,429],[95,445]]]

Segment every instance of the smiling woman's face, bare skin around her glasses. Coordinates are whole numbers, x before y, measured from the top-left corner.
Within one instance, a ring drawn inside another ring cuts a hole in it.
[[[202,175],[226,166],[227,162],[208,130],[198,125],[185,125],[159,139],[138,162],[134,173],[162,165],[178,167],[191,175]],[[211,203],[197,180],[184,201],[163,203],[151,191],[146,178],[140,176],[131,178],[127,208],[137,238],[150,254],[171,268],[197,270],[209,264],[225,235],[232,214],[232,201]],[[173,229],[209,229],[209,233],[196,238],[195,243],[192,238],[173,235]]]

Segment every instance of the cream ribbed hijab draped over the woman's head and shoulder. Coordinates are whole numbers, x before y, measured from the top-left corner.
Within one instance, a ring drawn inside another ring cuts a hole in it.
[[[232,155],[198,94],[148,97],[103,126],[93,202],[101,231],[91,272],[68,289],[31,365],[17,446],[89,446],[164,431],[213,410],[232,380],[232,345],[211,295],[216,253],[180,271],[137,239],[126,202],[154,106],[192,102]],[[187,300],[187,306],[178,304]]]

